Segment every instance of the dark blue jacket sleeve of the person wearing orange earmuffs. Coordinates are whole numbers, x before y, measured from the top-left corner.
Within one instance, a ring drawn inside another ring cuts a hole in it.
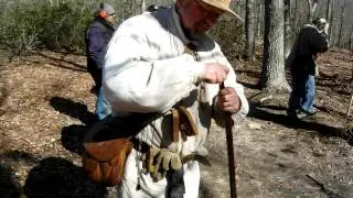
[[[93,26],[88,31],[88,56],[96,63],[98,68],[103,67],[105,56],[105,37],[99,28]]]

